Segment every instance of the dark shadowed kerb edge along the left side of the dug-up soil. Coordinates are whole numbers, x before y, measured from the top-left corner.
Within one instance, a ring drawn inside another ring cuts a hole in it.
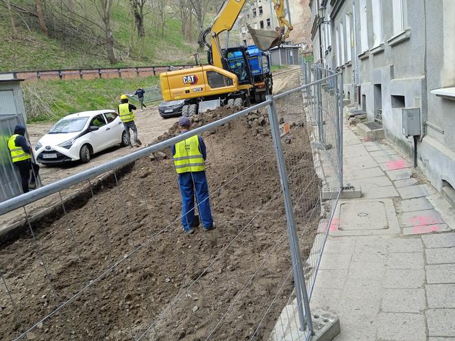
[[[130,172],[130,170],[132,170],[134,163],[135,162],[125,164],[124,166],[116,168],[116,170],[111,171],[109,173],[105,173],[91,181],[94,194],[99,192],[101,186],[110,184],[112,181],[114,181],[114,172],[116,173],[117,178],[120,179],[121,177],[123,177],[123,175],[126,175],[127,173]],[[79,188],[75,192],[67,195],[66,197],[62,197],[66,213],[73,210],[74,207],[80,207],[82,205],[85,205],[88,202],[88,200],[90,200],[90,198],[91,192],[90,186],[88,185]],[[57,203],[54,203],[53,205],[45,208],[45,210],[42,210],[36,214],[29,214],[28,221],[30,225],[32,225],[32,227],[34,227],[35,229],[36,225],[42,225],[49,219],[56,220],[63,216],[63,214],[64,210],[62,207],[62,202],[58,201]],[[19,236],[24,236],[27,235],[28,233],[29,226],[26,218],[22,218],[21,220],[17,221],[16,223],[13,223],[12,225],[3,226],[0,229],[0,246],[8,244],[19,238]]]

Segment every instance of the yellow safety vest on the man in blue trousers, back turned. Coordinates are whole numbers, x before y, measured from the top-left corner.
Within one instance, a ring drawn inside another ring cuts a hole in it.
[[[204,170],[204,157],[199,151],[199,138],[197,135],[175,144],[173,157],[177,173],[200,172]]]

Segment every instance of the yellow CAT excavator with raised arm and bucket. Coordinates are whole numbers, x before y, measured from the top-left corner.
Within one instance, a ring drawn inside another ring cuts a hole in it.
[[[183,116],[192,116],[223,105],[249,105],[264,101],[265,94],[271,94],[271,73],[255,79],[247,47],[221,48],[220,34],[232,29],[246,2],[225,0],[211,25],[199,37],[208,47],[208,65],[160,74],[164,99],[159,108],[161,116],[166,117],[167,112],[180,114],[180,108]],[[279,24],[275,31],[248,26],[251,38],[262,51],[281,45],[293,29],[286,20],[284,0],[273,0],[273,4]],[[179,112],[175,112],[175,108]]]

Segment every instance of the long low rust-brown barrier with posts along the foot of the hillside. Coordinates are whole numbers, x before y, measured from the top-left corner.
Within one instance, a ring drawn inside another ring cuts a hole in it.
[[[51,70],[8,71],[3,74],[12,74],[16,79],[25,81],[36,80],[71,80],[71,79],[96,79],[96,78],[134,78],[158,76],[160,73],[183,68],[192,68],[195,65],[156,65],[156,66],[125,66],[121,68],[62,68]]]

